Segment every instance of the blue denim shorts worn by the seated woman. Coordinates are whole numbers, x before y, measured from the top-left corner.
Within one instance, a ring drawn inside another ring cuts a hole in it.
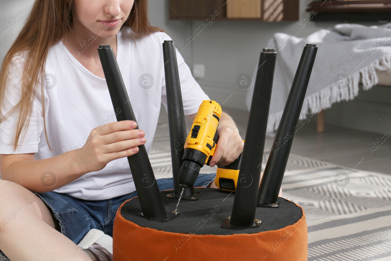
[[[215,176],[216,173],[200,174],[194,187],[206,187]],[[160,178],[156,182],[159,190],[174,189],[172,178]],[[58,230],[61,230],[63,235],[78,244],[91,229],[102,230],[112,237],[114,218],[118,207],[126,200],[137,196],[137,193],[133,192],[108,200],[82,200],[52,191],[36,195],[48,206],[58,221]],[[3,260],[9,259],[0,250],[0,261]]]

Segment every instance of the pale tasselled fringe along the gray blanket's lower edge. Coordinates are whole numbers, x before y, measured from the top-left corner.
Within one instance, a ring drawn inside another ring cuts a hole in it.
[[[353,100],[359,95],[359,82],[361,78],[363,90],[369,90],[377,85],[379,79],[376,71],[391,72],[391,53],[385,54],[382,58],[373,61],[368,66],[349,75],[350,85],[348,88],[341,90],[335,85],[330,85],[319,92],[305,97],[299,120],[307,119],[307,113],[319,113],[321,110],[331,108],[333,103]],[[361,77],[360,77],[361,76]],[[269,115],[267,121],[267,133],[274,133],[280,124],[282,112]]]

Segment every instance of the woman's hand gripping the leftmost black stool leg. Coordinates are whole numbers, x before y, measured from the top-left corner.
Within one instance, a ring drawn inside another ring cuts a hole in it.
[[[115,121],[91,130],[84,146],[76,149],[84,173],[99,171],[110,161],[134,155],[145,144],[145,132],[135,121]]]

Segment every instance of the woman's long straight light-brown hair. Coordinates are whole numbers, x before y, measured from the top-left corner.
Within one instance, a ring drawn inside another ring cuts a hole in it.
[[[7,90],[7,80],[13,63],[13,58],[20,53],[24,53],[25,62],[21,74],[20,101],[10,112],[0,118],[0,124],[8,119],[9,115],[18,111],[19,118],[16,134],[13,140],[14,151],[18,147],[20,134],[27,122],[26,130],[29,126],[34,99],[33,94],[40,88],[42,101],[42,117],[45,129],[45,137],[49,149],[50,147],[45,120],[45,93],[43,91],[43,74],[45,72],[46,58],[50,47],[58,43],[65,34],[69,34],[73,22],[72,0],[36,0],[22,30],[11,45],[4,57],[0,70],[0,110],[3,108],[5,92]],[[139,38],[152,32],[165,32],[164,30],[151,26],[148,20],[147,0],[135,0],[129,17],[122,26],[132,29],[135,38]],[[31,51],[30,50],[34,50]],[[24,137],[23,137],[24,140]]]

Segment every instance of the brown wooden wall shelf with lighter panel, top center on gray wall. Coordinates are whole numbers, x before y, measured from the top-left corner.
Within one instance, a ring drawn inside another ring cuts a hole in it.
[[[281,22],[299,19],[299,0],[170,0],[170,20]],[[217,11],[215,13],[215,11]]]

